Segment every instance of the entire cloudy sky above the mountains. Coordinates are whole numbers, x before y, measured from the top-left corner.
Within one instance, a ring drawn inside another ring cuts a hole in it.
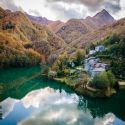
[[[125,17],[125,0],[0,0],[0,6],[50,20],[84,19],[102,9],[115,19]]]

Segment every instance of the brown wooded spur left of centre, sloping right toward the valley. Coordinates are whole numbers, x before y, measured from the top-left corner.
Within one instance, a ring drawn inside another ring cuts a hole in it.
[[[43,53],[46,56],[55,53],[56,50],[59,50],[66,46],[65,42],[59,38],[56,34],[51,32],[51,30],[46,26],[40,26],[34,24],[38,32],[40,33],[41,39],[36,42],[33,42],[33,48],[39,53]]]

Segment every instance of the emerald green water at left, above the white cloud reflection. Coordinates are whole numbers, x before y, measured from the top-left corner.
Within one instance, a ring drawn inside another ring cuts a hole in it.
[[[8,97],[21,99],[32,90],[51,86],[54,89],[65,89],[71,93],[71,89],[46,77],[41,77],[42,68],[16,68],[0,71],[0,101]],[[6,75],[5,75],[6,74]]]

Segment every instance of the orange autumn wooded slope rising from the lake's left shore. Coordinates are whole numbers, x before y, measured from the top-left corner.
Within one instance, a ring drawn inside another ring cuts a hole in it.
[[[32,49],[25,49],[14,35],[0,31],[0,68],[38,65],[39,63],[39,53]]]

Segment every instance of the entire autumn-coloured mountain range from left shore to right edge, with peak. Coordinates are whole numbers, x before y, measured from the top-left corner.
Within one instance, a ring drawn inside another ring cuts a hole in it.
[[[125,19],[116,21],[106,10],[86,19],[40,25],[25,13],[0,8],[0,66],[35,65],[40,60],[52,64],[61,53],[73,54],[113,33],[125,35]]]

